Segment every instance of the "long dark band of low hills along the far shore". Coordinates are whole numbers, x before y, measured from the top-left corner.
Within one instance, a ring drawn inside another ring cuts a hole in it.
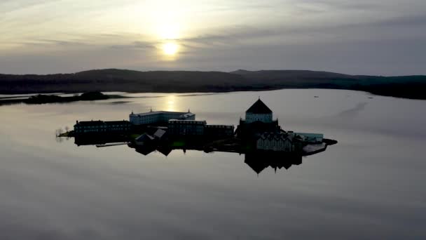
[[[426,76],[352,76],[305,70],[235,72],[151,71],[101,69],[76,74],[0,74],[0,93],[229,92],[280,88],[335,88],[379,95],[426,99]]]

